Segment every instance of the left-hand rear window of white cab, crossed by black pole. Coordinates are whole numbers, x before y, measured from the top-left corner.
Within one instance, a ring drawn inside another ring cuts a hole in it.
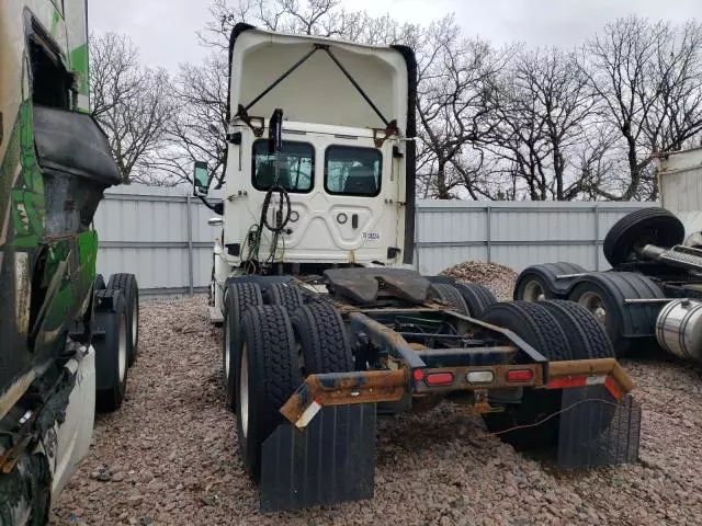
[[[252,183],[267,191],[275,181],[275,156],[268,151],[268,140],[253,142]],[[315,149],[307,142],[283,141],[278,185],[288,192],[309,192],[314,182]]]

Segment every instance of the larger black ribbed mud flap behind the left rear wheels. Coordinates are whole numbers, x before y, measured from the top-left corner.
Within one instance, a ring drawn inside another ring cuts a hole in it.
[[[299,431],[281,424],[263,443],[261,511],[373,498],[375,403],[322,408]]]

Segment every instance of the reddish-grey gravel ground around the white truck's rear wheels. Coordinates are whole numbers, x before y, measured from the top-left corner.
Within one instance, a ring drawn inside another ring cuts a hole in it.
[[[641,462],[557,472],[486,433],[466,409],[382,420],[375,498],[263,515],[220,387],[220,330],[204,299],[143,302],[128,395],[100,415],[54,525],[702,524],[702,370],[627,362],[644,407]]]

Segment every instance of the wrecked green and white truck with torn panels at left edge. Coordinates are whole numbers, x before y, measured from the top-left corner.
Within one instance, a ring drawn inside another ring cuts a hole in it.
[[[117,409],[134,275],[95,275],[92,218],[120,183],[88,114],[86,0],[0,3],[0,524],[41,525]]]

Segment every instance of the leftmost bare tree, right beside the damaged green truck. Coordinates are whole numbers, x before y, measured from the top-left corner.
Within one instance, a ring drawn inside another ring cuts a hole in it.
[[[144,68],[125,36],[91,35],[92,115],[110,138],[123,183],[158,181],[148,159],[163,145],[173,115],[170,79],[163,69]]]

